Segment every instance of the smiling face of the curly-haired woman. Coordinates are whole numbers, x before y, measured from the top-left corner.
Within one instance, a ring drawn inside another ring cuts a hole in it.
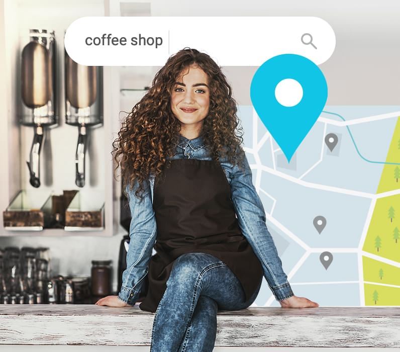
[[[181,131],[189,135],[188,138],[195,138],[195,134],[199,134],[209,113],[209,83],[206,72],[192,64],[177,77],[172,88],[171,110],[181,123]]]

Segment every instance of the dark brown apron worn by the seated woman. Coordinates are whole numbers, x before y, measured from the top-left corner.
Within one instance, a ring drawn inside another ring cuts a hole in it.
[[[262,267],[238,225],[221,164],[176,159],[163,172],[153,194],[157,253],[149,261],[148,291],[139,308],[156,311],[174,260],[192,252],[222,260],[239,279],[247,301],[262,279]]]

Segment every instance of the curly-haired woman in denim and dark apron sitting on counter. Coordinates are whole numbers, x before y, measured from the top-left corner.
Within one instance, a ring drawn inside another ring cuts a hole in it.
[[[263,276],[282,307],[318,307],[287,282],[236,111],[221,68],[185,48],[157,72],[114,141],[131,240],[119,295],[96,304],[134,305],[148,275],[139,308],[155,312],[151,351],[212,351],[217,310],[249,307]]]

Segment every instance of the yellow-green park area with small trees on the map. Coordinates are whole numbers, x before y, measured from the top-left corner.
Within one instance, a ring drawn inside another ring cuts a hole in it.
[[[400,165],[390,164],[400,160],[399,147],[400,118],[397,119],[376,192],[382,197],[376,200],[363,246],[365,252],[389,259],[389,262],[400,262],[400,194],[383,193],[400,188]],[[400,305],[400,268],[363,256],[363,272],[364,281],[370,283],[364,284],[365,305]]]

